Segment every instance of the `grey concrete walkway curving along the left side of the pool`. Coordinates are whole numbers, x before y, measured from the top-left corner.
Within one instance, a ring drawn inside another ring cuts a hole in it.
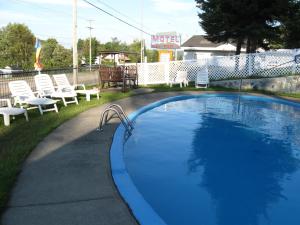
[[[152,93],[116,103],[129,113],[174,95]],[[96,131],[104,107],[65,122],[34,149],[18,177],[3,225],[137,224],[111,177],[109,149],[117,123],[107,125],[103,133]]]

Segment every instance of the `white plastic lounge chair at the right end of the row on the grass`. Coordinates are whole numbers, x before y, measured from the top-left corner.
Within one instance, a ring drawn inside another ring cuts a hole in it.
[[[83,94],[86,97],[87,101],[91,100],[91,95],[96,95],[97,99],[99,99],[100,91],[99,89],[89,89],[85,88],[84,84],[71,85],[66,74],[56,74],[53,75],[56,85],[61,89],[66,90],[74,90],[78,94]],[[81,87],[82,89],[76,89],[77,87]]]

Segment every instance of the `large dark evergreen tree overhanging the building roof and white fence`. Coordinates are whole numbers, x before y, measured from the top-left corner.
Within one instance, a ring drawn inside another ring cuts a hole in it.
[[[247,52],[277,39],[280,18],[292,0],[196,0],[201,9],[200,25],[213,42],[235,42],[236,54],[242,44]]]

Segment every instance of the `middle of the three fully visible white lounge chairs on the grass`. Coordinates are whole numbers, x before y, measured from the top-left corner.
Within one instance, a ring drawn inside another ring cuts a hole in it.
[[[55,90],[52,80],[48,74],[34,76],[36,89],[41,97],[61,98],[64,105],[76,103],[78,105],[77,94],[74,90],[60,89]],[[72,100],[67,100],[72,99]]]

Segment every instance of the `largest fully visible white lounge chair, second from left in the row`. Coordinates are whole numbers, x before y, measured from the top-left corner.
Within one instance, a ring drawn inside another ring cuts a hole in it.
[[[19,104],[21,108],[27,105],[33,105],[33,107],[27,107],[26,109],[38,108],[41,115],[44,112],[55,111],[58,112],[56,106],[56,100],[49,98],[38,98],[31,90],[29,85],[24,80],[10,81],[8,83],[9,90],[14,98],[14,105]],[[53,105],[53,108],[43,109],[44,106]]]

